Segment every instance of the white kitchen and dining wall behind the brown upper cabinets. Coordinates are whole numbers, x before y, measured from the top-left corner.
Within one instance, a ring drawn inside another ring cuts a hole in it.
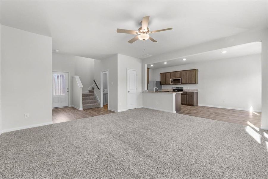
[[[261,111],[261,54],[153,69],[160,72],[198,69],[198,84],[162,85],[198,89],[198,105]],[[223,103],[223,100],[226,103]]]

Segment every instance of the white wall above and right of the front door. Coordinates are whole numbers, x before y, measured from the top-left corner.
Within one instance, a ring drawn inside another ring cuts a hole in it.
[[[73,80],[75,75],[75,56],[52,53],[52,71],[69,72],[69,106],[73,105]]]

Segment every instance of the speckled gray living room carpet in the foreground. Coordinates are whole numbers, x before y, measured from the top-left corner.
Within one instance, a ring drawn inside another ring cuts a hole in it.
[[[267,178],[264,133],[133,109],[0,136],[0,178]]]

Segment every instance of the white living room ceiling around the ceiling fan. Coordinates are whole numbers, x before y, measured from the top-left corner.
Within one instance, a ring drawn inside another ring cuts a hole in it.
[[[268,27],[268,1],[32,1],[1,0],[0,23],[52,37],[60,53],[104,58],[120,53],[133,57],[158,55],[180,48]],[[151,34],[149,40],[127,41],[143,16],[148,27],[173,30]]]

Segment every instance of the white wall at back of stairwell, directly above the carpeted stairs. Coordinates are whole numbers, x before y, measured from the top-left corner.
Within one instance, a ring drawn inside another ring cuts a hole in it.
[[[94,84],[94,59],[75,56],[75,75],[83,84],[83,92]]]

